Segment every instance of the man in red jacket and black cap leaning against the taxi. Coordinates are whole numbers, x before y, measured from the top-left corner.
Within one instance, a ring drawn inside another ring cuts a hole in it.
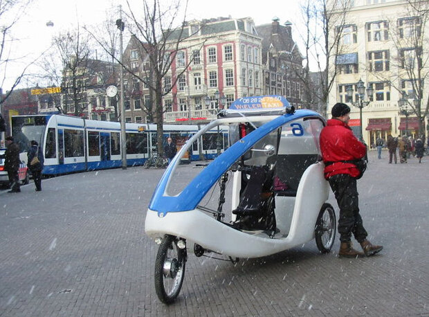
[[[341,246],[338,256],[363,255],[353,248],[352,233],[365,255],[369,256],[381,251],[383,246],[374,246],[366,239],[368,234],[359,214],[356,177],[360,176],[360,171],[350,161],[363,159],[367,147],[358,141],[347,125],[350,120],[349,113],[349,106],[340,102],[334,105],[331,111],[333,118],[328,120],[327,126],[320,133],[320,150],[325,162],[325,178],[329,181],[340,207],[338,233]]]

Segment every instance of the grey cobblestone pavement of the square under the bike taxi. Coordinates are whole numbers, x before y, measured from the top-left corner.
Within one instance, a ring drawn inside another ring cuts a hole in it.
[[[163,170],[71,174],[0,193],[0,316],[429,316],[429,157],[369,154],[358,181],[374,257],[311,241],[237,264],[190,255],[173,305],[154,290],[145,212]],[[183,166],[183,171],[192,166]],[[331,194],[329,201],[338,213]],[[202,224],[203,225],[203,224]]]

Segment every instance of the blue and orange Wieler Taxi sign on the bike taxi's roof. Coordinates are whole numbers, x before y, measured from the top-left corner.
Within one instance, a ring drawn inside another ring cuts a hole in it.
[[[255,111],[255,110],[277,110],[291,107],[289,101],[283,96],[253,96],[243,97],[235,100],[229,110]]]

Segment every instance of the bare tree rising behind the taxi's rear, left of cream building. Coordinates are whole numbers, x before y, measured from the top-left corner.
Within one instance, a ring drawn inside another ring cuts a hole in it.
[[[341,39],[347,13],[350,10],[349,0],[306,0],[301,7],[304,33],[300,33],[304,42],[304,71],[296,71],[304,85],[304,96],[311,103],[325,106],[329,102],[329,92],[336,80],[338,68],[336,57],[342,53]],[[310,77],[310,65],[314,64],[318,85],[314,89]]]

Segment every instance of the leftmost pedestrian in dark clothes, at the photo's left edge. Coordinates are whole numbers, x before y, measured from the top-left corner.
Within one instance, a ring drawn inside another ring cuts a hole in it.
[[[10,187],[8,192],[21,192],[18,176],[19,164],[21,163],[19,159],[19,146],[14,142],[12,136],[8,136],[6,138],[6,147],[5,153],[0,157],[1,159],[5,159],[4,170],[8,172]]]

